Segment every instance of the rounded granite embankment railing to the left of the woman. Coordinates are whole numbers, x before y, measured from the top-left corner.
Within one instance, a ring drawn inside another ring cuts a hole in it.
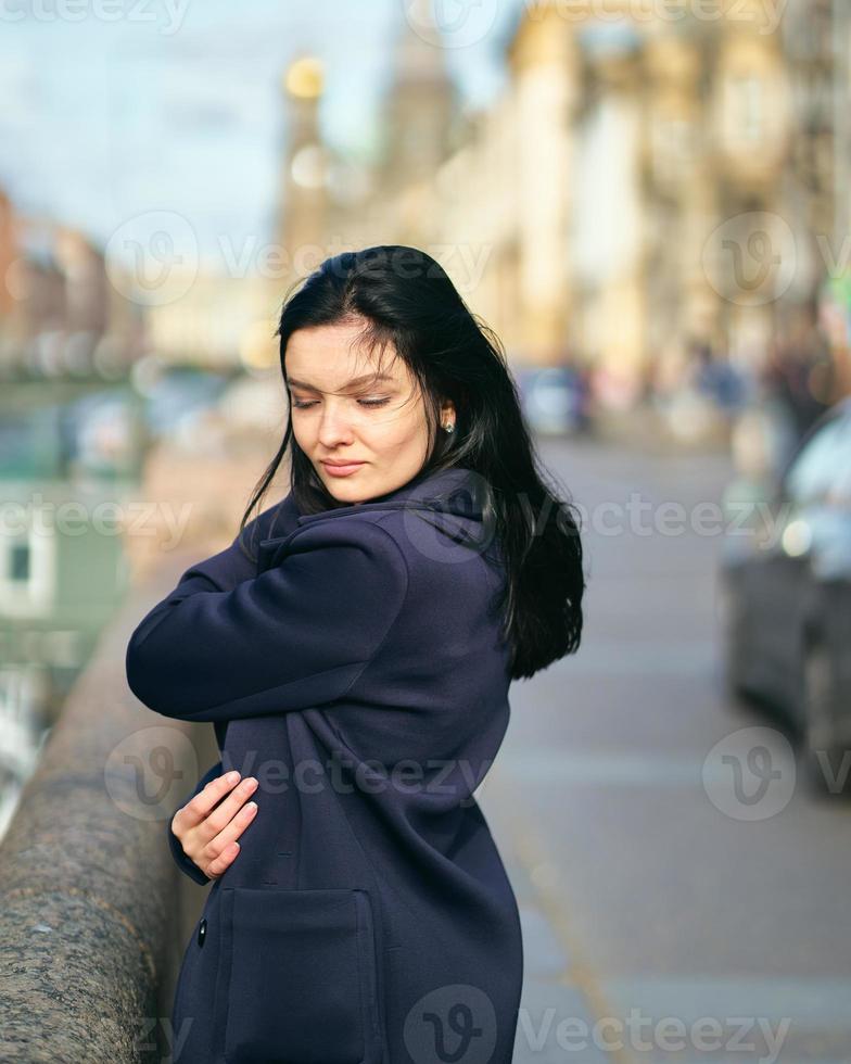
[[[170,1006],[206,887],[166,819],[217,758],[209,724],[127,686],[127,639],[191,557],[134,590],[43,745],[0,841],[0,1062],[170,1064]]]

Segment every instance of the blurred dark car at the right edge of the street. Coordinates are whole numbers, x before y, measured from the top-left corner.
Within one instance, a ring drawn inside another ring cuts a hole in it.
[[[774,487],[761,494],[754,483],[746,490],[739,483],[726,497],[720,570],[726,680],[734,694],[792,725],[813,785],[847,794],[851,397],[810,428]]]

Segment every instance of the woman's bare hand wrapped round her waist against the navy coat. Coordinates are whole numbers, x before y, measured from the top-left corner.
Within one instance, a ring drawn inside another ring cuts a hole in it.
[[[226,772],[211,780],[172,818],[172,831],[183,852],[207,878],[218,879],[239,853],[237,839],[257,812],[256,802],[245,805],[256,788],[254,776],[240,782],[239,772]]]

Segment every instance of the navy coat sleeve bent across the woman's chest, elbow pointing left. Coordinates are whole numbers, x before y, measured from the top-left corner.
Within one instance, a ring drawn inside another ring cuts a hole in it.
[[[407,588],[405,556],[378,524],[308,523],[281,560],[229,591],[188,570],[131,635],[128,684],[149,708],[186,721],[334,701],[383,643]]]

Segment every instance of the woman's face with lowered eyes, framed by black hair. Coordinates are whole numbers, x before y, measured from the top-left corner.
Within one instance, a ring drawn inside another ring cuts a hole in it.
[[[422,468],[429,445],[416,379],[393,352],[383,359],[385,379],[370,379],[377,363],[354,346],[363,326],[299,329],[284,355],[293,435],[328,492],[347,504],[402,487]],[[454,421],[450,404],[441,420]],[[353,465],[335,473],[331,464],[342,463]]]

